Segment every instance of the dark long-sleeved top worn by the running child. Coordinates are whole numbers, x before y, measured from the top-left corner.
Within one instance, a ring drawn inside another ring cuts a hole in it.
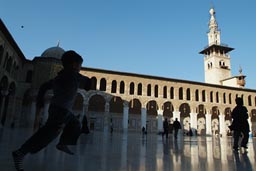
[[[51,104],[71,112],[80,83],[82,83],[82,87],[85,90],[89,90],[91,87],[91,81],[88,77],[72,70],[61,70],[54,79],[40,87],[37,96],[37,106],[43,106],[45,92],[52,89],[53,97],[51,98]]]

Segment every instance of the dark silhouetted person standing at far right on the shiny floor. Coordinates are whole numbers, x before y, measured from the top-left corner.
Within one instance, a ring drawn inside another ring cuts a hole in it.
[[[231,112],[231,117],[233,119],[231,126],[229,127],[233,130],[234,144],[233,150],[238,151],[238,141],[241,134],[243,139],[241,141],[241,147],[247,149],[247,143],[249,139],[249,123],[248,110],[243,106],[243,99],[241,97],[236,98],[236,107]]]

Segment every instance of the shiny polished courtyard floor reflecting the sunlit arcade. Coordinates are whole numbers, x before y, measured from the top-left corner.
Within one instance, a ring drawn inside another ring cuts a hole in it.
[[[0,171],[15,171],[11,151],[29,136],[28,129],[0,129]],[[248,153],[232,152],[232,139],[183,137],[177,141],[139,133],[92,132],[82,135],[75,155],[55,149],[57,139],[24,161],[25,171],[249,171],[256,170],[256,139]]]

